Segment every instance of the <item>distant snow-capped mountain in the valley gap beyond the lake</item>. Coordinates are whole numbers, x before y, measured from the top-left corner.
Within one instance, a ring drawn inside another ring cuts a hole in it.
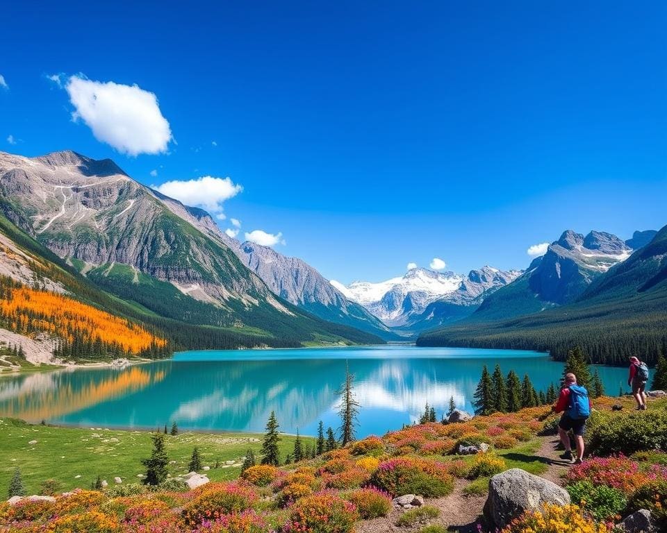
[[[331,281],[331,285],[387,325],[415,331],[467,316],[486,294],[504,287],[520,274],[493,267],[470,271],[468,276],[415,268],[384,282],[356,281],[345,286]],[[443,313],[443,307],[453,312]]]

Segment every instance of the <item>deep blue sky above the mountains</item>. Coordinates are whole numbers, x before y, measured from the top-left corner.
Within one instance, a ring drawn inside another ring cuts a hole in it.
[[[26,4],[3,5],[1,150],[229,176],[220,226],[328,278],[523,268],[567,228],[667,223],[664,2]],[[155,94],[172,139],[96,139],[71,76]]]

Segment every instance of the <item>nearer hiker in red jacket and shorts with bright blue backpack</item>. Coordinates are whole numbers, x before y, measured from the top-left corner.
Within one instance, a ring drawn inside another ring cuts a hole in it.
[[[561,442],[565,446],[565,453],[561,459],[582,464],[584,460],[584,428],[586,428],[586,419],[591,415],[591,400],[588,398],[586,387],[577,385],[577,376],[569,372],[565,375],[565,383],[561,389],[561,394],[554,406],[554,411],[563,413],[558,423],[558,434]],[[568,431],[572,430],[575,434],[577,443],[577,457],[572,455],[572,444]]]

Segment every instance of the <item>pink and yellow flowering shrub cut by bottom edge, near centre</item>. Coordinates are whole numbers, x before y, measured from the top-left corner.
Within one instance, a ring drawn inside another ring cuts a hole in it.
[[[350,533],[359,518],[351,502],[331,493],[313,494],[298,500],[290,509],[284,533]]]

